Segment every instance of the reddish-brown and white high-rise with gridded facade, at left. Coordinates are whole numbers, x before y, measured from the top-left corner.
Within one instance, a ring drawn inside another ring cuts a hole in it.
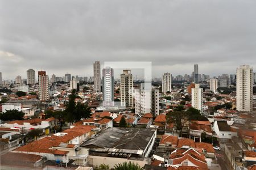
[[[49,100],[49,78],[46,71],[38,71],[39,100]]]

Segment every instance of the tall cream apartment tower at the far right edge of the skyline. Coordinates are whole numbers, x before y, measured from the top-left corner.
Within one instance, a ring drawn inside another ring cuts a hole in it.
[[[253,68],[249,65],[237,68],[237,111],[253,111]]]

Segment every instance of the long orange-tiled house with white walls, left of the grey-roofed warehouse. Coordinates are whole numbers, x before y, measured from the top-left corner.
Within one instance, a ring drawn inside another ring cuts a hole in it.
[[[94,126],[75,126],[72,129],[67,129],[61,133],[18,147],[13,152],[40,155],[47,160],[59,161],[65,164],[72,159],[77,164],[85,165],[87,163],[88,150],[79,149],[78,147],[94,134],[94,128]]]

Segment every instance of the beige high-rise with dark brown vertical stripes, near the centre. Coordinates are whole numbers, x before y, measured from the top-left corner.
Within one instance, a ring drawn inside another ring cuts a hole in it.
[[[121,107],[133,107],[133,75],[131,70],[123,70],[120,77]]]

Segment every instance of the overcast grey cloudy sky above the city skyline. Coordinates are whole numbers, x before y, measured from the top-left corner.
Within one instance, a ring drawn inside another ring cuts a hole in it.
[[[0,0],[0,72],[93,75],[94,61],[152,61],[164,72],[256,68],[256,1]]]

